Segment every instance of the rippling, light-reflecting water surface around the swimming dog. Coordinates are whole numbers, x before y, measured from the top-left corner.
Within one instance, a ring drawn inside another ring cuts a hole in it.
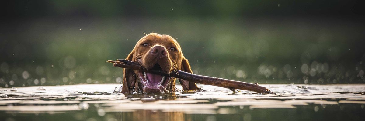
[[[277,94],[199,85],[204,92],[117,94],[120,84],[0,89],[0,117],[19,120],[364,120],[365,84],[265,86]],[[181,88],[180,85],[177,86]]]

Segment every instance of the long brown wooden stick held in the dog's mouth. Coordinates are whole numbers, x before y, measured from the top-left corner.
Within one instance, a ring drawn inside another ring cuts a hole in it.
[[[195,83],[199,83],[199,84],[219,86],[219,87],[228,88],[228,89],[249,90],[249,91],[262,93],[262,94],[275,94],[263,86],[259,86],[257,84],[252,84],[252,83],[247,83],[247,82],[233,81],[233,80],[227,80],[224,78],[216,78],[216,77],[209,77],[209,76],[201,76],[201,75],[197,75],[197,74],[187,73],[187,72],[184,72],[181,70],[177,70],[176,72],[173,71],[171,73],[164,73],[161,70],[151,70],[151,69],[143,68],[138,63],[128,61],[128,60],[118,59],[117,61],[108,60],[107,62],[113,63],[113,65],[115,67],[127,68],[127,69],[132,69],[132,70],[140,70],[142,72],[180,78],[182,80],[187,80],[187,81],[191,81],[191,82],[195,82]]]

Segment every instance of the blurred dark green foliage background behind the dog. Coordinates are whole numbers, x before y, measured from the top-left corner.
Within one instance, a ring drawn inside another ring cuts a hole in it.
[[[361,1],[4,1],[0,86],[120,83],[143,33],[193,72],[268,84],[364,83]]]

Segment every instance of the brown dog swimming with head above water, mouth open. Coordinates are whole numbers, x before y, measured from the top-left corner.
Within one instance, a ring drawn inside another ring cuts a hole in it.
[[[189,62],[180,45],[169,35],[150,33],[142,37],[126,60],[138,62],[146,69],[170,73],[176,69],[192,73]],[[146,93],[175,92],[175,79],[138,70],[123,70],[122,93],[143,91]],[[179,79],[183,90],[200,89],[195,83]]]

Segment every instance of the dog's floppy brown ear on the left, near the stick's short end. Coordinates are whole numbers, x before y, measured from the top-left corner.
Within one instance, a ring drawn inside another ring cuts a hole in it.
[[[133,58],[133,52],[132,51],[126,58],[126,60],[132,61]],[[134,88],[134,84],[136,81],[136,75],[134,74],[133,70],[131,69],[123,69],[123,87],[122,87],[122,93],[129,93],[130,90]]]

